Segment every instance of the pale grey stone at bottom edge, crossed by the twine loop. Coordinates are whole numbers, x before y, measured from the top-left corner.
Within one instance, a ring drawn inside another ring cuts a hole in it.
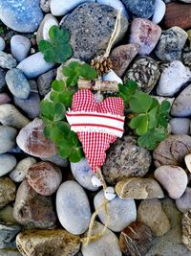
[[[104,226],[95,221],[92,234],[96,235],[102,232],[103,229]],[[100,239],[88,245],[82,244],[81,251],[83,256],[122,256],[117,236],[108,228],[106,228],[104,235]]]

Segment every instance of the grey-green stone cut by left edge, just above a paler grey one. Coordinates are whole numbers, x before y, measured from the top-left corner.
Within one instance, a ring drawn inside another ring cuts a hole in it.
[[[11,151],[15,146],[17,130],[8,126],[0,126],[0,153]]]

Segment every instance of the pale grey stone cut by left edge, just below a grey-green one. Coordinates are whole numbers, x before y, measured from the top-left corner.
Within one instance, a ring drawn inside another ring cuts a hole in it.
[[[0,176],[7,175],[16,165],[16,158],[11,153],[0,154]]]

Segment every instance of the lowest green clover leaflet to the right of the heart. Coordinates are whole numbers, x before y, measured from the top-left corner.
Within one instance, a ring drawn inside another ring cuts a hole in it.
[[[165,128],[153,128],[138,138],[138,146],[153,151],[158,147],[159,142],[166,137],[167,130]]]

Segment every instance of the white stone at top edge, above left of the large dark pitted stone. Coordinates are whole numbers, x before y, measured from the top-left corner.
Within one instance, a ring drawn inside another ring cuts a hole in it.
[[[52,0],[51,12],[53,16],[62,16],[73,11],[75,7],[86,2],[96,2],[96,0]]]

